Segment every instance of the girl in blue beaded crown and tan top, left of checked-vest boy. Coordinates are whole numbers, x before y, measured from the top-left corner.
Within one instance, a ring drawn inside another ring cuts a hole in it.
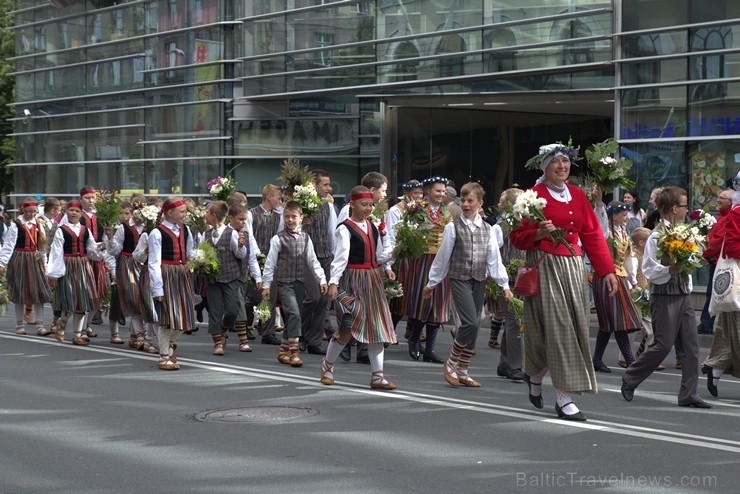
[[[426,348],[424,349],[424,362],[441,364],[444,362],[434,352],[439,326],[446,322],[450,316],[450,284],[447,278],[434,287],[430,297],[422,297],[422,290],[429,282],[429,269],[437,254],[439,245],[442,243],[442,232],[447,223],[452,221],[452,216],[447,207],[442,203],[445,197],[447,179],[442,177],[431,177],[424,180],[424,192],[427,197],[425,220],[431,225],[427,252],[417,259],[406,260],[399,267],[399,281],[404,287],[407,296],[403,297],[401,310],[408,316],[407,325],[411,326],[409,337],[409,356],[419,360],[421,344],[419,338],[426,324]]]

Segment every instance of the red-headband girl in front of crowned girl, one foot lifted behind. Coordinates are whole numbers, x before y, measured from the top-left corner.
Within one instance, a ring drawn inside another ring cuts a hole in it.
[[[396,333],[383,288],[382,266],[391,259],[390,244],[384,245],[377,227],[368,220],[373,210],[370,189],[358,185],[350,193],[352,215],[334,234],[329,296],[335,300],[339,336],[333,337],[321,363],[321,382],[334,384],[334,362],[344,346],[355,338],[367,343],[372,389],[395,389],[383,375],[384,343],[395,343]],[[389,279],[393,271],[386,270]]]

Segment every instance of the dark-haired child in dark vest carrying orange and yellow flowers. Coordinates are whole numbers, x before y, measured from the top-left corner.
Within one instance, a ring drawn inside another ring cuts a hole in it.
[[[678,405],[711,408],[697,391],[699,385],[699,338],[691,306],[691,271],[698,261],[703,240],[683,223],[688,207],[684,189],[664,187],[655,199],[660,223],[648,237],[642,271],[650,282],[650,313],[655,341],[622,377],[622,396],[632,401],[635,388],[647,379],[670,352],[681,360]],[[699,263],[700,264],[700,263]]]

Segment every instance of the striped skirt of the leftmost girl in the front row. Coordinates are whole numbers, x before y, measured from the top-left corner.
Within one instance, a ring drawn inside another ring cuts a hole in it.
[[[8,261],[5,279],[8,298],[14,304],[43,304],[51,301],[44,260],[40,252],[15,250]]]

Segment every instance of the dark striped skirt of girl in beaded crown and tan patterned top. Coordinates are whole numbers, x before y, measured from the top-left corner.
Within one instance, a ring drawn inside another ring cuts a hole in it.
[[[452,295],[447,278],[434,287],[431,297],[421,296],[422,290],[429,282],[429,269],[432,267],[434,254],[424,254],[416,259],[405,259],[398,269],[398,281],[403,285],[404,296],[401,298],[397,314],[404,314],[409,319],[416,319],[430,324],[442,324],[450,319]]]

